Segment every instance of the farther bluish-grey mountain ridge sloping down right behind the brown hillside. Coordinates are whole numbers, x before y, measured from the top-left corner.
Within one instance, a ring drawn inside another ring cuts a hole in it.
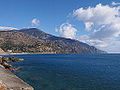
[[[36,28],[21,29],[18,31],[54,45],[59,49],[60,53],[105,53],[104,51],[101,51],[94,46],[89,46],[86,43],[73,39],[53,36]]]

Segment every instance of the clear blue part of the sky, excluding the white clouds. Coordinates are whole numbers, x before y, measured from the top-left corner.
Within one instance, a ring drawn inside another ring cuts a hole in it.
[[[37,28],[57,36],[61,35],[58,29],[63,23],[72,25],[70,27],[77,32],[76,35],[89,35],[91,31],[85,31],[84,21],[76,20],[72,16],[73,11],[82,7],[96,7],[99,3],[111,5],[112,2],[119,3],[119,0],[0,0],[0,26],[32,27],[32,20],[37,19],[40,22]],[[112,48],[106,50],[116,52]]]

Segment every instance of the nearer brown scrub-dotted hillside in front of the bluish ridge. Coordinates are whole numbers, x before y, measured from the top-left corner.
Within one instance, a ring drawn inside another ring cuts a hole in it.
[[[17,31],[0,31],[0,48],[12,53],[59,53],[54,45]]]

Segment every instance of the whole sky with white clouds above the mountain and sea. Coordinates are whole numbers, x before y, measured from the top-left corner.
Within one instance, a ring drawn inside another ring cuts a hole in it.
[[[119,0],[0,0],[0,29],[36,27],[120,53]]]

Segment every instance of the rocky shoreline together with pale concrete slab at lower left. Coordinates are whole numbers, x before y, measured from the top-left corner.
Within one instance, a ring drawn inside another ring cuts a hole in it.
[[[0,57],[0,90],[34,90],[10,71],[13,68],[7,64],[10,61],[22,61],[22,59]]]

